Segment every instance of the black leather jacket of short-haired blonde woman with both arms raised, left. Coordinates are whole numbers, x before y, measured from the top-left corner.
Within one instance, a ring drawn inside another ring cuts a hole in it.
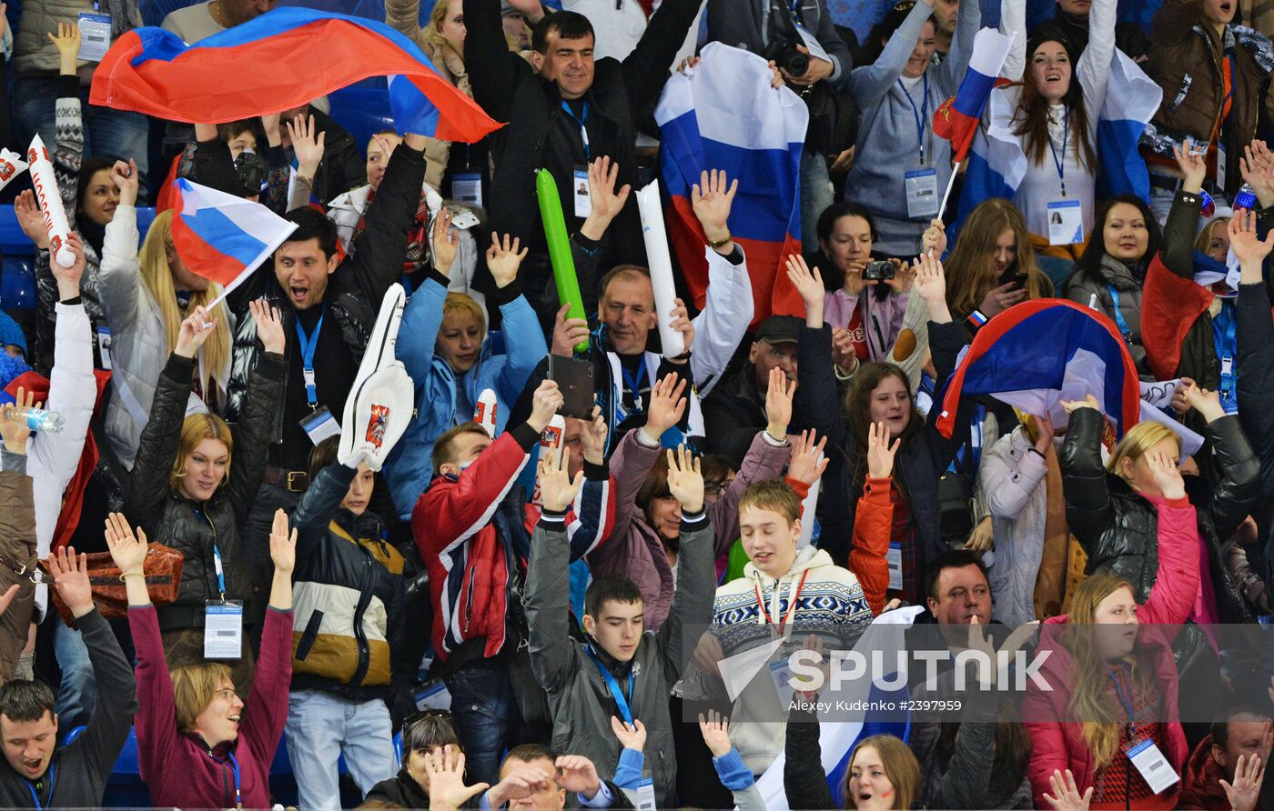
[[[252,584],[247,550],[240,525],[247,518],[261,485],[269,452],[270,414],[283,398],[283,356],[262,353],[252,370],[243,419],[233,428],[234,447],[228,481],[208,502],[199,504],[168,485],[186,420],[186,401],[194,379],[194,359],[172,355],[155,387],[150,421],[132,465],[127,516],[152,541],[172,546],[186,561],[177,600],[158,610],[159,628],[173,630],[204,626],[204,602],[218,600],[213,547],[222,554],[225,598],[245,602],[245,621],[264,616],[269,597]]]

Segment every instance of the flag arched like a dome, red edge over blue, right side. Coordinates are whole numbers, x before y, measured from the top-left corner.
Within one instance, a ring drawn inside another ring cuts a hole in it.
[[[1093,395],[1115,435],[1140,420],[1136,365],[1110,318],[1052,298],[1023,302],[991,318],[964,351],[940,398],[938,429],[950,437],[962,396],[991,395],[1027,414],[1068,416],[1061,400]]]

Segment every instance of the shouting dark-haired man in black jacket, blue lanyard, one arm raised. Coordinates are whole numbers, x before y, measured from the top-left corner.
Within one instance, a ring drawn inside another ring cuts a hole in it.
[[[310,485],[310,451],[340,433],[338,420],[354,384],[386,290],[403,272],[406,234],[415,220],[424,182],[424,136],[408,134],[390,157],[358,252],[341,258],[336,227],[313,209],[296,209],[287,219],[297,229],[252,275],[227,297],[238,317],[233,335],[225,419],[234,421],[247,392],[248,373],[262,351],[248,302],[265,298],[283,316],[288,374],[283,402],[271,429],[270,461],[256,503],[243,527],[251,555],[252,588],[269,592],[273,565],[269,544],[274,511],[292,511]],[[261,628],[260,616],[245,625]],[[255,640],[254,640],[255,645]]]

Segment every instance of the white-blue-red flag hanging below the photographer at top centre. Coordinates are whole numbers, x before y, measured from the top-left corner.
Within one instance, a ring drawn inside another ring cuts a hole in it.
[[[800,154],[809,111],[787,88],[772,88],[766,60],[712,42],[687,74],[674,74],[655,108],[668,195],[668,237],[687,286],[702,308],[708,285],[703,229],[691,186],[705,169],[739,181],[729,227],[748,255],[753,325],[772,313],[804,314],[800,295],[780,272],[800,253]]]

